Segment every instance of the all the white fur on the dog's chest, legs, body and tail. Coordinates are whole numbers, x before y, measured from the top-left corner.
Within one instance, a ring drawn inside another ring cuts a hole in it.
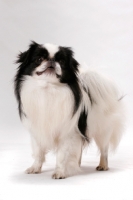
[[[80,87],[89,88],[93,104],[82,90],[83,99],[73,116],[74,99],[70,88],[55,76],[26,76],[22,85],[21,100],[23,123],[29,129],[35,162],[27,173],[41,172],[45,154],[55,150],[56,169],[53,178],[65,178],[80,170],[83,137],[78,129],[78,119],[85,107],[88,111],[87,135],[94,138],[101,158],[98,170],[108,169],[107,154],[110,146],[118,146],[123,130],[123,105],[114,84],[96,72],[79,74]],[[72,117],[73,116],[73,117]]]

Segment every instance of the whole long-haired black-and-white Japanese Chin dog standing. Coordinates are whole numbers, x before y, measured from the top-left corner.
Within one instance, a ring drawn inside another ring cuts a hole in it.
[[[118,146],[124,122],[114,83],[83,70],[68,47],[32,42],[17,63],[15,95],[35,159],[26,173],[40,173],[50,150],[56,152],[54,179],[77,173],[84,145],[92,139],[100,151],[96,169],[108,170],[108,151]]]

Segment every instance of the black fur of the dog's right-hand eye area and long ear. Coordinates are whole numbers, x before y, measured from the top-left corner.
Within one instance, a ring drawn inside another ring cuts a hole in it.
[[[73,93],[75,113],[82,98],[77,77],[79,63],[73,58],[73,51],[69,47],[60,47],[59,52],[55,55],[55,60],[60,63],[62,68],[62,75],[58,76],[60,82],[68,84]]]

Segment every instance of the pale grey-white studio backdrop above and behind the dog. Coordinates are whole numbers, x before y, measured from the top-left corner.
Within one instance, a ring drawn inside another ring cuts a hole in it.
[[[111,75],[131,103],[132,19],[132,0],[1,0],[0,127],[17,129],[20,124],[13,94],[14,61],[31,40],[72,47],[79,62]]]

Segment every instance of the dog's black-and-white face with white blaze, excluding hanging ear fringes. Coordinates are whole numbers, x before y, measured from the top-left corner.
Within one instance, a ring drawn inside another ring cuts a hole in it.
[[[78,62],[68,47],[52,44],[40,45],[35,42],[18,56],[20,75],[30,75],[49,82],[72,83],[78,72]]]

